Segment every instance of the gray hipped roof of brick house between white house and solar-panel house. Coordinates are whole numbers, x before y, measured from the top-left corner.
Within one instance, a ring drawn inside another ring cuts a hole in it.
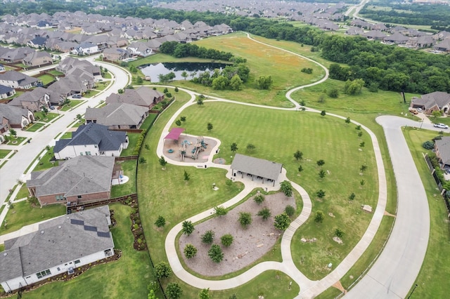
[[[111,188],[114,163],[114,157],[79,156],[46,171],[32,172],[27,187],[36,187],[38,197],[107,192]]]

